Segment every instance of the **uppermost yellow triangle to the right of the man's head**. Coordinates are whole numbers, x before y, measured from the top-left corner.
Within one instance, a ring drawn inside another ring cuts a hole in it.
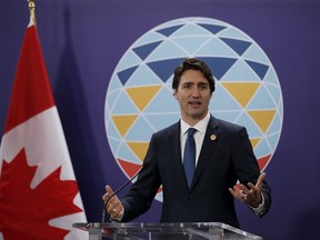
[[[260,82],[221,82],[221,84],[232,94],[242,108],[246,108],[259,88]]]

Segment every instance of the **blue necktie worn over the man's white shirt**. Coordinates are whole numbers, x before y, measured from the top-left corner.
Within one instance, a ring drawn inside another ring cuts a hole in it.
[[[196,169],[196,142],[193,138],[196,131],[197,129],[193,128],[188,129],[188,136],[184,146],[183,167],[189,189],[191,187]]]

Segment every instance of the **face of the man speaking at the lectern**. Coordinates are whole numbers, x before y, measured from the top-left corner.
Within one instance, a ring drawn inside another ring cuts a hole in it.
[[[181,117],[190,126],[203,119],[208,112],[211,91],[208,80],[201,71],[187,70],[173,92],[179,101]]]

